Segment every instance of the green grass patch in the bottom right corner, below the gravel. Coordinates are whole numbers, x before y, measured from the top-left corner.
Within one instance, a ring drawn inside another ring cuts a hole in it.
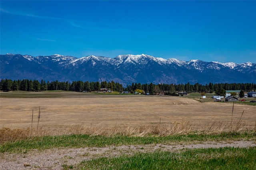
[[[74,169],[100,170],[255,170],[256,147],[147,152],[82,161]]]

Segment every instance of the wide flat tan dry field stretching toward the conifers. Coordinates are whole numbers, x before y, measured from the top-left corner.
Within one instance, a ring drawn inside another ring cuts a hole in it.
[[[100,135],[106,134],[106,131],[110,134],[143,135],[147,129],[148,133],[163,135],[191,131],[218,133],[255,130],[256,126],[255,106],[234,104],[232,114],[232,103],[201,103],[183,97],[87,95],[76,92],[59,92],[55,98],[48,98],[47,95],[46,98],[0,98],[0,129],[30,128],[32,111],[33,128],[36,128],[39,107],[41,135]],[[156,126],[158,129],[152,130]]]

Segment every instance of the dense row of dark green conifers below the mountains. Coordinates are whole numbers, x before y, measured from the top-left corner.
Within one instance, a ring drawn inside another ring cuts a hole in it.
[[[108,88],[111,91],[123,92],[128,91],[134,93],[136,90],[143,90],[145,93],[154,94],[157,92],[164,92],[166,95],[174,94],[175,92],[216,92],[220,89],[225,90],[243,90],[253,91],[256,90],[256,84],[254,83],[209,83],[209,84],[140,84],[132,83],[126,88],[118,82],[59,82],[58,80],[53,82],[46,82],[45,80],[10,80],[2,79],[0,82],[0,88],[3,91],[46,91],[46,90],[64,90],[64,91],[75,91],[75,92],[92,92],[100,91],[100,88]]]

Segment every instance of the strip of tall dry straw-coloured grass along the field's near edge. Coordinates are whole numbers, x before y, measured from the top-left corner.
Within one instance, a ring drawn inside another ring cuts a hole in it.
[[[224,123],[214,121],[204,127],[193,124],[190,121],[174,122],[169,125],[148,125],[148,126],[87,126],[73,125],[69,128],[59,129],[44,129],[43,127],[26,128],[26,129],[10,129],[3,127],[0,129],[0,143],[8,141],[18,141],[29,139],[30,137],[40,136],[56,136],[56,135],[73,135],[73,134],[87,134],[87,135],[104,135],[104,136],[138,136],[144,137],[148,135],[168,136],[168,135],[184,135],[184,134],[218,134],[225,132],[240,132],[240,131],[255,131],[255,129],[248,129],[243,121],[232,120],[232,123]]]

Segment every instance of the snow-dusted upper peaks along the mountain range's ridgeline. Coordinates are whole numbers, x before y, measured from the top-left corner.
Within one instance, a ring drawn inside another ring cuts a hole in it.
[[[14,57],[14,54],[6,54],[6,57],[12,58]],[[228,63],[220,63],[218,61],[212,61],[212,62],[204,62],[200,61],[198,59],[193,59],[190,61],[182,61],[178,59],[163,59],[161,57],[154,57],[151,55],[146,55],[146,54],[141,54],[141,55],[118,55],[115,58],[109,58],[109,57],[102,57],[102,56],[86,56],[86,57],[81,57],[81,58],[76,58],[72,56],[65,56],[65,55],[60,55],[60,54],[54,54],[51,56],[38,56],[38,57],[32,57],[30,55],[21,55],[28,61],[34,61],[36,63],[44,63],[46,61],[52,61],[56,62],[59,64],[72,64],[72,65],[77,65],[77,64],[82,64],[84,62],[91,61],[94,64],[101,63],[102,65],[115,65],[118,66],[120,64],[148,64],[149,61],[154,61],[160,65],[169,65],[169,64],[176,64],[177,66],[180,67],[185,67],[187,69],[196,69],[196,70],[204,70],[205,68],[208,69],[217,69],[219,70],[221,66],[230,68],[230,69],[236,69],[239,67],[239,69],[242,68],[248,68],[252,67],[253,63],[247,62],[247,63],[242,63],[242,64],[237,64],[233,62],[228,62]]]

